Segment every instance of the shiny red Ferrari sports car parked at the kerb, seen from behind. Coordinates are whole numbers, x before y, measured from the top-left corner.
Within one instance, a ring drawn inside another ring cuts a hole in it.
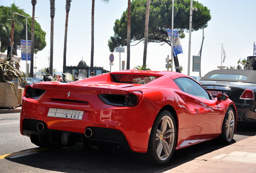
[[[165,164],[176,149],[217,137],[230,143],[236,122],[226,95],[214,99],[189,76],[123,70],[27,86],[20,130],[40,147],[110,142]]]

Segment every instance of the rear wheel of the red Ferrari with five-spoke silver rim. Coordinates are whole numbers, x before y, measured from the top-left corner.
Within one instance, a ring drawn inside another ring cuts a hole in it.
[[[147,160],[157,165],[166,164],[173,155],[177,129],[169,111],[161,111],[151,129]]]

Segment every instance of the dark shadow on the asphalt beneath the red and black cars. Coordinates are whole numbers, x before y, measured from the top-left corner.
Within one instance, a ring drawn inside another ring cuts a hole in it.
[[[237,125],[238,135],[256,135],[255,123],[241,123]],[[245,138],[245,137],[244,137]],[[232,143],[235,143],[234,139]],[[239,139],[241,140],[241,139]],[[196,157],[225,147],[218,139],[206,141],[197,145],[179,149],[173,153],[171,161],[163,166],[144,163],[134,157],[132,153],[115,153],[110,151],[84,151],[81,144],[62,149],[48,149],[38,153],[6,158],[8,161],[27,165],[29,168],[39,168],[48,171],[65,173],[154,173],[172,165],[190,161]],[[30,170],[26,169],[27,172]],[[32,171],[32,170],[31,170]],[[33,171],[32,171],[33,172]]]

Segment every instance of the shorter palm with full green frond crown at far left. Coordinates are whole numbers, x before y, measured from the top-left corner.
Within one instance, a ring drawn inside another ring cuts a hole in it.
[[[4,7],[4,11],[2,12],[4,15],[6,15],[6,18],[11,21],[11,40],[10,40],[10,46],[13,46],[13,35],[14,35],[14,28],[17,30],[22,30],[23,25],[20,22],[23,20],[21,16],[15,15],[14,12],[17,12],[19,14],[24,14],[23,9],[20,9],[19,6],[16,6],[15,3],[11,4],[10,7]],[[15,25],[16,24],[16,25]],[[16,26],[16,27],[15,27]],[[13,51],[13,48],[12,48]]]

